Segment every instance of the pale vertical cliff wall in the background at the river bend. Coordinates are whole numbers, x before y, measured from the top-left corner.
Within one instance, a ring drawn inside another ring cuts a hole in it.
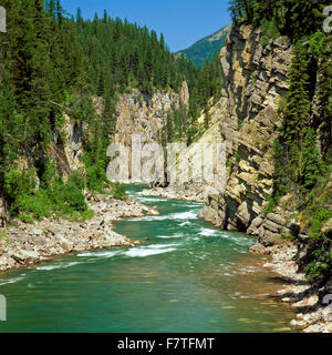
[[[160,144],[163,141],[163,130],[167,124],[167,114],[175,109],[179,109],[180,105],[188,108],[188,104],[189,90],[185,81],[181,83],[178,93],[172,90],[168,92],[157,90],[152,94],[147,94],[138,90],[133,90],[132,93],[120,94],[116,108],[117,121],[112,142],[121,144],[125,150],[122,151],[124,155],[120,156],[120,160],[115,162],[114,165],[108,165],[108,178],[123,183],[129,183],[132,181],[139,182],[141,176],[147,179],[148,176],[144,176],[142,166],[151,161],[153,156],[143,156],[142,150],[144,145],[147,143]],[[136,135],[136,138],[134,138],[134,135]],[[137,146],[132,146],[133,139],[135,139]],[[135,153],[139,156],[133,155]],[[110,153],[110,156],[112,156],[111,160],[113,160],[114,154],[115,152]],[[162,150],[155,150],[154,154],[159,154],[159,156],[155,155],[155,159],[159,162],[160,169],[152,166],[152,173],[154,175],[151,176],[149,181],[144,181],[146,183],[152,183],[154,179],[156,181],[164,180],[162,174],[164,170],[164,166],[162,166],[164,165],[164,152]],[[149,154],[147,153],[147,155]],[[160,156],[163,158],[160,159]],[[134,174],[132,172],[132,163],[135,163],[136,160],[141,161],[141,166],[137,166],[139,172],[136,171]],[[118,166],[118,163],[122,166]]]

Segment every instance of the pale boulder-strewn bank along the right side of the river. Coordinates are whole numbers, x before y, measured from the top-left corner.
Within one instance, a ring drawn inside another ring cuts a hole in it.
[[[160,196],[168,200],[185,200],[194,202],[206,202],[207,196],[211,195],[211,186],[204,184],[191,184],[187,186],[154,187],[144,190],[139,194],[144,196]],[[214,223],[207,212],[215,212],[205,206],[199,217]],[[272,222],[274,221],[274,222]],[[258,219],[257,219],[257,222]],[[320,302],[320,295],[326,294],[326,287],[322,290],[313,287],[307,280],[304,273],[299,272],[297,256],[299,248],[289,239],[283,239],[280,234],[286,230],[291,230],[291,223],[281,221],[279,215],[270,213],[266,220],[251,224],[249,234],[258,236],[259,241],[250,252],[260,255],[268,255],[269,261],[263,264],[280,275],[280,290],[278,295],[273,295],[280,302],[291,304],[297,310],[297,317],[291,322],[292,325],[303,328],[305,333],[332,333],[332,310],[323,306]],[[279,224],[278,224],[278,223]],[[261,226],[261,229],[258,229]],[[273,233],[271,232],[274,227]],[[258,231],[255,230],[258,229]],[[277,227],[277,229],[276,229]],[[258,233],[259,232],[259,233]],[[332,284],[330,285],[330,287]],[[332,294],[332,290],[331,290]]]

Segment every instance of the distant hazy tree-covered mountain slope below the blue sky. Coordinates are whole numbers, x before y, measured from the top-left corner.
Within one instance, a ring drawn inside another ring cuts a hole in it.
[[[176,54],[185,54],[196,65],[203,64],[205,60],[211,59],[214,53],[219,52],[226,43],[230,26],[226,26],[219,31],[207,36],[187,49],[176,52]]]

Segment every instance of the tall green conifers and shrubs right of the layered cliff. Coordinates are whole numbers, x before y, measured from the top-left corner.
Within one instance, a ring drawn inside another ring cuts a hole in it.
[[[325,41],[326,44],[331,43],[331,37],[325,36]],[[298,207],[304,211],[312,240],[312,257],[305,266],[305,272],[311,281],[320,282],[329,277],[332,270],[331,236],[328,237],[321,232],[324,223],[332,216],[331,193],[324,194],[324,186],[332,171],[331,133],[329,135],[324,132],[332,114],[332,87],[331,77],[319,77],[315,84],[320,88],[318,91],[320,112],[318,114],[312,112],[311,85],[315,82],[313,77],[317,72],[311,71],[310,63],[315,61],[318,72],[328,70],[330,75],[332,65],[331,52],[311,51],[310,47],[312,43],[308,45],[303,40],[299,40],[294,48],[290,90],[283,109],[284,122],[280,138],[274,144],[278,168],[271,203],[277,205],[278,201],[289,192],[298,196]],[[329,63],[328,68],[325,61]],[[329,81],[330,84],[326,83]],[[313,120],[310,120],[312,116]],[[317,139],[318,126],[321,126],[322,133],[320,145]]]

